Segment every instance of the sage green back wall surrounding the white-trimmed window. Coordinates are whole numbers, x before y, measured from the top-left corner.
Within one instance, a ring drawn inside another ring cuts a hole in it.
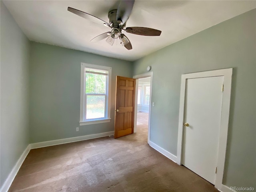
[[[79,126],[81,62],[112,67],[111,122]],[[117,75],[132,62],[31,42],[30,143],[113,131]]]

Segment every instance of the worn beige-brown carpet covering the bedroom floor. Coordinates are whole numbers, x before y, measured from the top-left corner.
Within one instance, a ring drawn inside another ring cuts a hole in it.
[[[147,125],[114,139],[33,149],[10,192],[218,192],[147,144]]]

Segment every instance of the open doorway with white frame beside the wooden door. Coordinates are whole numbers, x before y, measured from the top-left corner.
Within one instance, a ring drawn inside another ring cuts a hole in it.
[[[134,133],[150,140],[150,113],[153,72],[134,76],[136,79]]]

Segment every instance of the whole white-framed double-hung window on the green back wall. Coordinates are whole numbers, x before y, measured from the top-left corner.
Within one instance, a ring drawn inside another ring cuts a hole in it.
[[[81,64],[80,125],[110,122],[111,67]]]

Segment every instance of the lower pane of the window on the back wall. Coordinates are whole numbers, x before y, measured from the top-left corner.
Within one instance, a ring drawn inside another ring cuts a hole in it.
[[[105,96],[87,95],[86,119],[103,118],[105,116]]]

